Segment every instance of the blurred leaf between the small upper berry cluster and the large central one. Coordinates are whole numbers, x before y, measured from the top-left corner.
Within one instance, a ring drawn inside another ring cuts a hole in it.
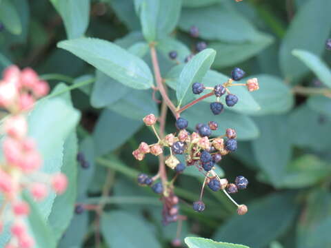
[[[225,134],[227,128],[234,128],[240,141],[250,140],[259,136],[259,129],[250,117],[228,110],[215,116],[210,111],[209,105],[205,103],[194,105],[194,107],[185,110],[182,116],[188,120],[190,130],[195,130],[197,123],[216,121],[219,124],[219,128],[212,132],[213,136]]]

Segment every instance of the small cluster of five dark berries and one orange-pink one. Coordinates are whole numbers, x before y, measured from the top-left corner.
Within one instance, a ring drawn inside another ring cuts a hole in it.
[[[225,96],[225,104],[228,107],[233,107],[238,103],[238,96],[231,94],[228,87],[237,86],[237,85],[246,85],[248,91],[252,92],[255,90],[259,90],[259,82],[256,78],[248,79],[248,81],[244,84],[242,83],[233,83],[233,81],[239,81],[243,79],[245,76],[245,72],[240,68],[234,68],[231,73],[232,78],[229,79],[226,83],[215,85],[214,87],[205,87],[202,83],[193,83],[192,84],[192,92],[193,94],[201,94],[204,90],[212,90],[214,95],[216,96],[216,101],[214,103],[210,103],[210,110],[212,110],[212,114],[221,114],[224,109],[223,103],[220,102],[221,96],[227,94]]]

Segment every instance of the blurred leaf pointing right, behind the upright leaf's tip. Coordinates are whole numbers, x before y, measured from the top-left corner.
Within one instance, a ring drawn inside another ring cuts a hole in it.
[[[273,38],[267,34],[261,34],[256,41],[246,41],[245,43],[221,43],[211,42],[208,48],[213,48],[217,52],[214,61],[214,68],[224,68],[231,65],[237,65],[252,56],[259,54],[273,41]]]

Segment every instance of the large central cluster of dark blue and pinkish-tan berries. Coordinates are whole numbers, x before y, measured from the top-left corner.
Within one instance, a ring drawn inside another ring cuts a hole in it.
[[[175,126],[178,132],[175,134],[167,134],[164,138],[160,138],[154,125],[157,123],[157,118],[154,114],[149,114],[143,121],[146,125],[152,127],[154,134],[158,138],[158,142],[148,145],[142,142],[138,149],[132,152],[134,158],[141,161],[146,154],[153,154],[154,156],[160,156],[164,154],[164,149],[169,150],[169,155],[165,159],[165,165],[170,167],[178,174],[185,170],[185,167],[194,166],[197,167],[199,172],[205,175],[205,183],[212,189],[212,191],[223,190],[225,194],[235,193],[238,189],[244,189],[248,185],[248,180],[243,176],[238,176],[235,180],[235,184],[229,184],[225,178],[219,178],[214,172],[214,165],[219,163],[223,156],[234,152],[237,149],[237,133],[235,130],[228,128],[225,130],[225,134],[212,138],[212,131],[218,129],[218,124],[214,121],[210,121],[208,124],[199,123],[196,125],[194,132],[190,133],[186,130],[188,127],[188,121],[185,118],[177,118]],[[180,163],[177,155],[185,155],[185,164]],[[154,180],[159,178],[159,174],[150,178],[146,174],[139,174],[139,185],[152,185]],[[203,187],[205,185],[203,184]],[[163,211],[163,223],[171,222],[168,220],[169,216],[173,216],[173,207],[178,206],[171,205],[173,195],[173,182],[159,182],[152,185],[152,190],[161,194],[161,199],[167,206]],[[225,190],[226,189],[226,190]],[[202,189],[203,190],[203,189]],[[201,191],[202,197],[202,191]],[[177,204],[177,203],[176,203]],[[171,206],[171,207],[170,207]],[[237,205],[239,207],[239,205]],[[193,209],[196,211],[203,211],[205,205],[201,199],[193,204]],[[168,213],[168,214],[165,214]],[[176,211],[176,214],[178,211]],[[242,211],[241,211],[242,213]],[[168,216],[168,217],[167,217]],[[177,219],[176,219],[177,220]],[[175,221],[175,220],[174,220]]]

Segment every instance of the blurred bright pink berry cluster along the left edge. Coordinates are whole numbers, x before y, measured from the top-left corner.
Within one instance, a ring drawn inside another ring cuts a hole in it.
[[[34,240],[26,227],[30,207],[21,196],[28,189],[35,200],[43,200],[53,189],[61,194],[68,184],[63,174],[43,174],[39,171],[43,159],[37,145],[28,137],[26,110],[31,110],[34,101],[48,94],[48,84],[41,81],[31,68],[19,70],[11,65],[3,71],[0,80],[0,107],[9,112],[3,124],[3,155],[0,165],[0,194],[3,199],[0,229],[10,225],[12,238],[7,247],[30,248]]]

